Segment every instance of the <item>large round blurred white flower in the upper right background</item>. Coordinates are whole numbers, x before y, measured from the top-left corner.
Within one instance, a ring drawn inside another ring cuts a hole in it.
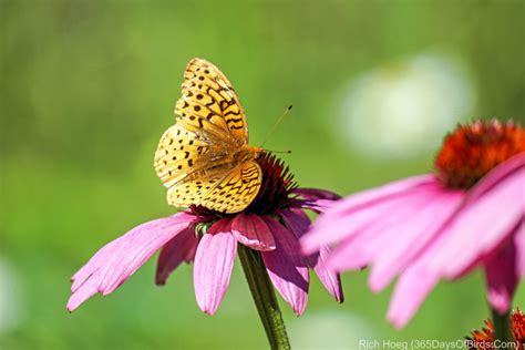
[[[351,147],[379,157],[435,148],[443,134],[472,119],[474,92],[453,60],[418,54],[353,79],[339,100],[338,132]]]

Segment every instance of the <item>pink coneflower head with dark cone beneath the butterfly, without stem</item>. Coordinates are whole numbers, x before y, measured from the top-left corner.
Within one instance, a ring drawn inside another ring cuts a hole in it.
[[[264,173],[261,189],[245,212],[226,215],[193,206],[133,228],[105,245],[73,276],[68,310],[97,292],[113,292],[161,250],[156,284],[164,285],[182,262],[193,261],[197,303],[213,315],[228,288],[239,244],[260,253],[271,282],[297,315],[307,305],[310,267],[342,301],[339,275],[325,262],[329,249],[303,257],[298,243],[310,225],[303,210],[320,212],[337,195],[296,188],[288,168],[274,156],[258,162]]]

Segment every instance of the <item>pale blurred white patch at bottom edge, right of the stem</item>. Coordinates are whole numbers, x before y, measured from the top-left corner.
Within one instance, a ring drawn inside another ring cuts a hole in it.
[[[358,349],[360,341],[378,338],[371,325],[354,313],[307,312],[287,326],[297,349]]]

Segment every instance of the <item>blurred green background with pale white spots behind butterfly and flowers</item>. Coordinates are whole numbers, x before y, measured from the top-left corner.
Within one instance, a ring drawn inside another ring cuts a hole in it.
[[[214,317],[191,266],[161,288],[155,259],[65,311],[97,248],[174,212],[152,163],[187,61],[229,76],[254,145],[294,104],[266,146],[292,151],[300,185],[347,195],[431,171],[457,122],[524,116],[524,4],[0,0],[0,348],[265,349],[238,264]],[[367,271],[343,276],[342,306],[312,279],[302,317],[281,303],[297,349],[457,340],[487,317],[481,272],[440,284],[401,331]]]

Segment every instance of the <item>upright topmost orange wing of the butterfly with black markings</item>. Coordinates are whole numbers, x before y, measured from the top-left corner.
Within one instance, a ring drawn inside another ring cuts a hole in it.
[[[186,128],[220,136],[236,146],[248,143],[248,125],[239,97],[218,68],[193,59],[186,66],[182,89],[175,113]]]

